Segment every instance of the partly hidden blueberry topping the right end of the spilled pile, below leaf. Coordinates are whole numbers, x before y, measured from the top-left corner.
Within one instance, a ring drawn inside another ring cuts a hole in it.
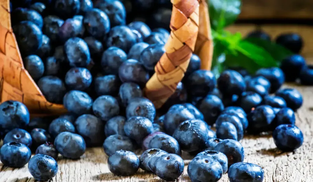
[[[269,93],[275,93],[284,83],[285,75],[280,68],[261,68],[256,73],[256,76],[264,76],[271,83]]]

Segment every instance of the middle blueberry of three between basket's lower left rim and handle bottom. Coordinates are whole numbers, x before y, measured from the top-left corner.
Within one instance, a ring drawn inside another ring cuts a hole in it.
[[[120,107],[117,100],[108,95],[98,97],[92,105],[92,110],[94,111],[95,116],[103,121],[108,121],[120,113]]]

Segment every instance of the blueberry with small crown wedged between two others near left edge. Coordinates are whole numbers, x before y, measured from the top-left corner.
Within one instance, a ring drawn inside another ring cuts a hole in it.
[[[9,131],[3,138],[3,144],[11,142],[21,143],[30,148],[32,145],[32,137],[26,130],[15,128]]]

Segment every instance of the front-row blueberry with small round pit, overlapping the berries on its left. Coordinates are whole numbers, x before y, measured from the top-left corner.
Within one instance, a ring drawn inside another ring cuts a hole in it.
[[[155,166],[155,174],[166,181],[175,181],[184,171],[184,161],[176,154],[160,156]]]

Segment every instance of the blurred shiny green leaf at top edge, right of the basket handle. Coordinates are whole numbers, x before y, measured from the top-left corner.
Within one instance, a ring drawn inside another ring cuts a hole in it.
[[[240,0],[209,0],[208,3],[212,28],[218,32],[231,25],[241,11]]]

